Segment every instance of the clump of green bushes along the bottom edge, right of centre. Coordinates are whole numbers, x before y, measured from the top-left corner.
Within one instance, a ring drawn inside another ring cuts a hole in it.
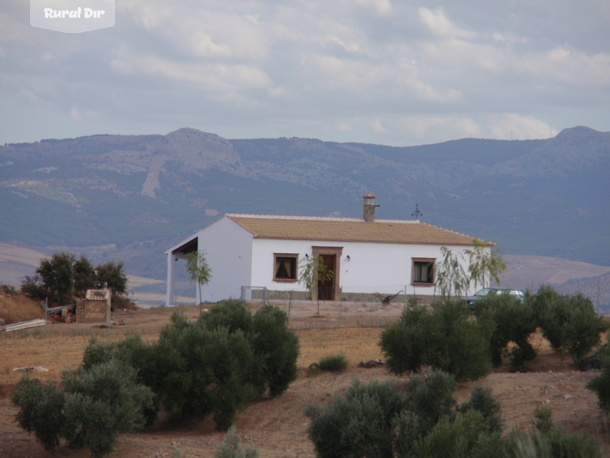
[[[406,388],[406,389],[405,389]],[[308,407],[309,438],[319,457],[601,457],[598,444],[546,430],[502,437],[500,404],[486,387],[475,387],[457,405],[455,378],[433,371],[406,387],[395,381],[355,381],[325,409]]]

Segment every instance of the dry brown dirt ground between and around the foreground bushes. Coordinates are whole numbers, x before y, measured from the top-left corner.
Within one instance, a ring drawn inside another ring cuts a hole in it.
[[[288,305],[278,304],[288,311]],[[290,304],[289,325],[299,337],[299,376],[288,391],[276,399],[252,403],[237,415],[236,427],[243,445],[259,449],[261,457],[315,456],[307,438],[308,418],[303,414],[310,405],[325,405],[344,392],[354,379],[396,378],[384,367],[358,367],[361,360],[382,358],[378,346],[383,326],[396,320],[403,304],[382,306],[371,303],[325,303],[317,315],[315,303]],[[42,328],[0,334],[0,456],[53,457],[89,456],[87,451],[71,450],[62,444],[55,453],[45,451],[30,435],[19,428],[14,416],[17,409],[10,395],[23,372],[15,368],[41,366],[48,371],[31,372],[43,380],[58,380],[61,372],[76,367],[92,336],[102,340],[122,339],[138,333],[145,340],[156,339],[159,329],[179,310],[194,319],[199,307],[154,308],[116,313],[120,325],[99,328],[93,324],[58,323]],[[610,425],[597,405],[596,395],[585,388],[599,372],[578,372],[569,357],[561,361],[544,339],[534,342],[538,357],[524,373],[510,372],[506,364],[484,379],[459,385],[456,397],[465,401],[473,386],[490,386],[502,404],[505,431],[530,429],[534,409],[547,405],[555,424],[568,432],[587,434],[599,439],[610,451]],[[342,353],[349,367],[339,374],[308,376],[307,368],[322,356]],[[144,431],[121,434],[111,457],[209,457],[224,440],[225,434],[214,430],[211,421],[170,424],[160,421]]]

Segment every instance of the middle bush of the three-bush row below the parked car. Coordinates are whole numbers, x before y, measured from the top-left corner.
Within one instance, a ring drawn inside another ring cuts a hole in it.
[[[516,369],[536,357],[536,351],[528,341],[538,326],[530,304],[508,294],[490,295],[477,303],[475,315],[481,322],[493,323],[489,350],[494,366],[499,366],[507,354]],[[508,352],[510,342],[516,346]]]

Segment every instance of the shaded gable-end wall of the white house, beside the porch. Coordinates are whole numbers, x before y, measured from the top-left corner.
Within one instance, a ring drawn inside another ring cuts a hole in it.
[[[252,235],[225,217],[199,232],[198,245],[212,268],[210,282],[202,287],[202,300],[239,298],[241,286],[250,284]]]

